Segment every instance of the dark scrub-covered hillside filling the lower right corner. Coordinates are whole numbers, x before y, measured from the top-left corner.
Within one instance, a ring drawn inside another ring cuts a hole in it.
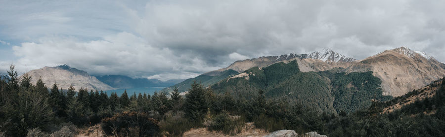
[[[442,82],[440,82],[442,81]],[[373,103],[365,110],[340,115],[327,124],[329,137],[444,137],[445,136],[445,78],[426,89],[431,96],[416,99],[394,111],[388,106],[425,93],[414,90],[389,102]],[[406,102],[405,102],[406,103]]]

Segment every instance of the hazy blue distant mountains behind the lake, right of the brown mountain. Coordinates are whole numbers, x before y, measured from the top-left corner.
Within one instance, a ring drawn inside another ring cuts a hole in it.
[[[95,77],[99,81],[118,89],[138,87],[168,87],[183,81],[180,79],[174,79],[163,82],[158,79],[131,78],[124,75],[103,75]]]

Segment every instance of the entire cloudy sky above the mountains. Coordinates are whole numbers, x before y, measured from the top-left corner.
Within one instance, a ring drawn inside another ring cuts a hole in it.
[[[0,73],[186,79],[237,60],[401,46],[445,62],[443,0],[0,0]]]

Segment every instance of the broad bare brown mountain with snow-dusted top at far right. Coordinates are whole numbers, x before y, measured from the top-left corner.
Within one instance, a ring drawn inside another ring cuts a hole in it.
[[[383,94],[398,97],[444,77],[442,65],[424,53],[400,47],[368,57],[344,71],[373,71],[382,80]]]

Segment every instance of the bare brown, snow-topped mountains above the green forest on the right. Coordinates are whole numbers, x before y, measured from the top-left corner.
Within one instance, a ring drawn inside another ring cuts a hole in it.
[[[373,76],[382,81],[380,85],[383,89],[382,94],[393,97],[421,88],[445,76],[444,63],[423,52],[406,47],[386,50],[363,60],[356,60],[325,49],[310,54],[288,54],[236,61],[226,68],[203,73],[198,77],[165,88],[163,91],[171,91],[173,87],[178,87],[179,91],[186,91],[191,81],[203,83],[204,86],[211,86],[218,83],[219,80],[234,76],[234,71],[242,73],[253,67],[261,69],[275,63],[289,63],[291,61],[296,61],[299,70],[302,72],[318,72],[334,68],[343,68],[339,72],[345,72],[346,74],[371,71]]]

